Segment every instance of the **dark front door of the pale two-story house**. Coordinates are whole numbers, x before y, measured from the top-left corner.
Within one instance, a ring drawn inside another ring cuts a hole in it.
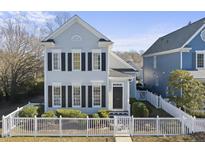
[[[122,87],[113,87],[113,109],[122,109]]]

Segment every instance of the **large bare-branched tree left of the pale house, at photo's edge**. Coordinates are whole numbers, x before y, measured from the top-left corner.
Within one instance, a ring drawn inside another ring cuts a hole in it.
[[[18,20],[5,21],[0,34],[0,86],[5,96],[14,98],[42,66],[43,47],[40,40],[30,35]]]

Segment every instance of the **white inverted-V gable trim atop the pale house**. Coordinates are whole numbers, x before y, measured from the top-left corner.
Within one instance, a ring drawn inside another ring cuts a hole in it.
[[[43,40],[43,42],[54,39],[56,36],[63,33],[65,30],[67,30],[71,25],[73,25],[76,22],[79,23],[80,25],[82,25],[87,30],[89,30],[91,33],[93,33],[96,37],[99,38],[99,40],[104,40],[104,41],[107,41],[107,42],[111,42],[109,38],[107,38],[105,35],[103,35],[99,31],[97,31],[94,27],[89,25],[86,21],[84,21],[82,18],[80,18],[77,15],[74,15],[73,17],[71,17],[66,23],[64,23],[62,26],[57,28],[53,33],[48,35]]]

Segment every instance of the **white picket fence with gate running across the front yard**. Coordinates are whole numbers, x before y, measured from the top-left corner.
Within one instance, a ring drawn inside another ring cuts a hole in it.
[[[8,123],[8,125],[7,125]],[[6,125],[5,125],[6,124]],[[7,136],[137,136],[188,134],[180,118],[21,118],[3,119]]]

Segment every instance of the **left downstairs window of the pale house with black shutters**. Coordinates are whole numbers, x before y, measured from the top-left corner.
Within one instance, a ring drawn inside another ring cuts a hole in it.
[[[53,84],[53,107],[61,107],[62,97],[61,97],[61,84],[54,83]]]

